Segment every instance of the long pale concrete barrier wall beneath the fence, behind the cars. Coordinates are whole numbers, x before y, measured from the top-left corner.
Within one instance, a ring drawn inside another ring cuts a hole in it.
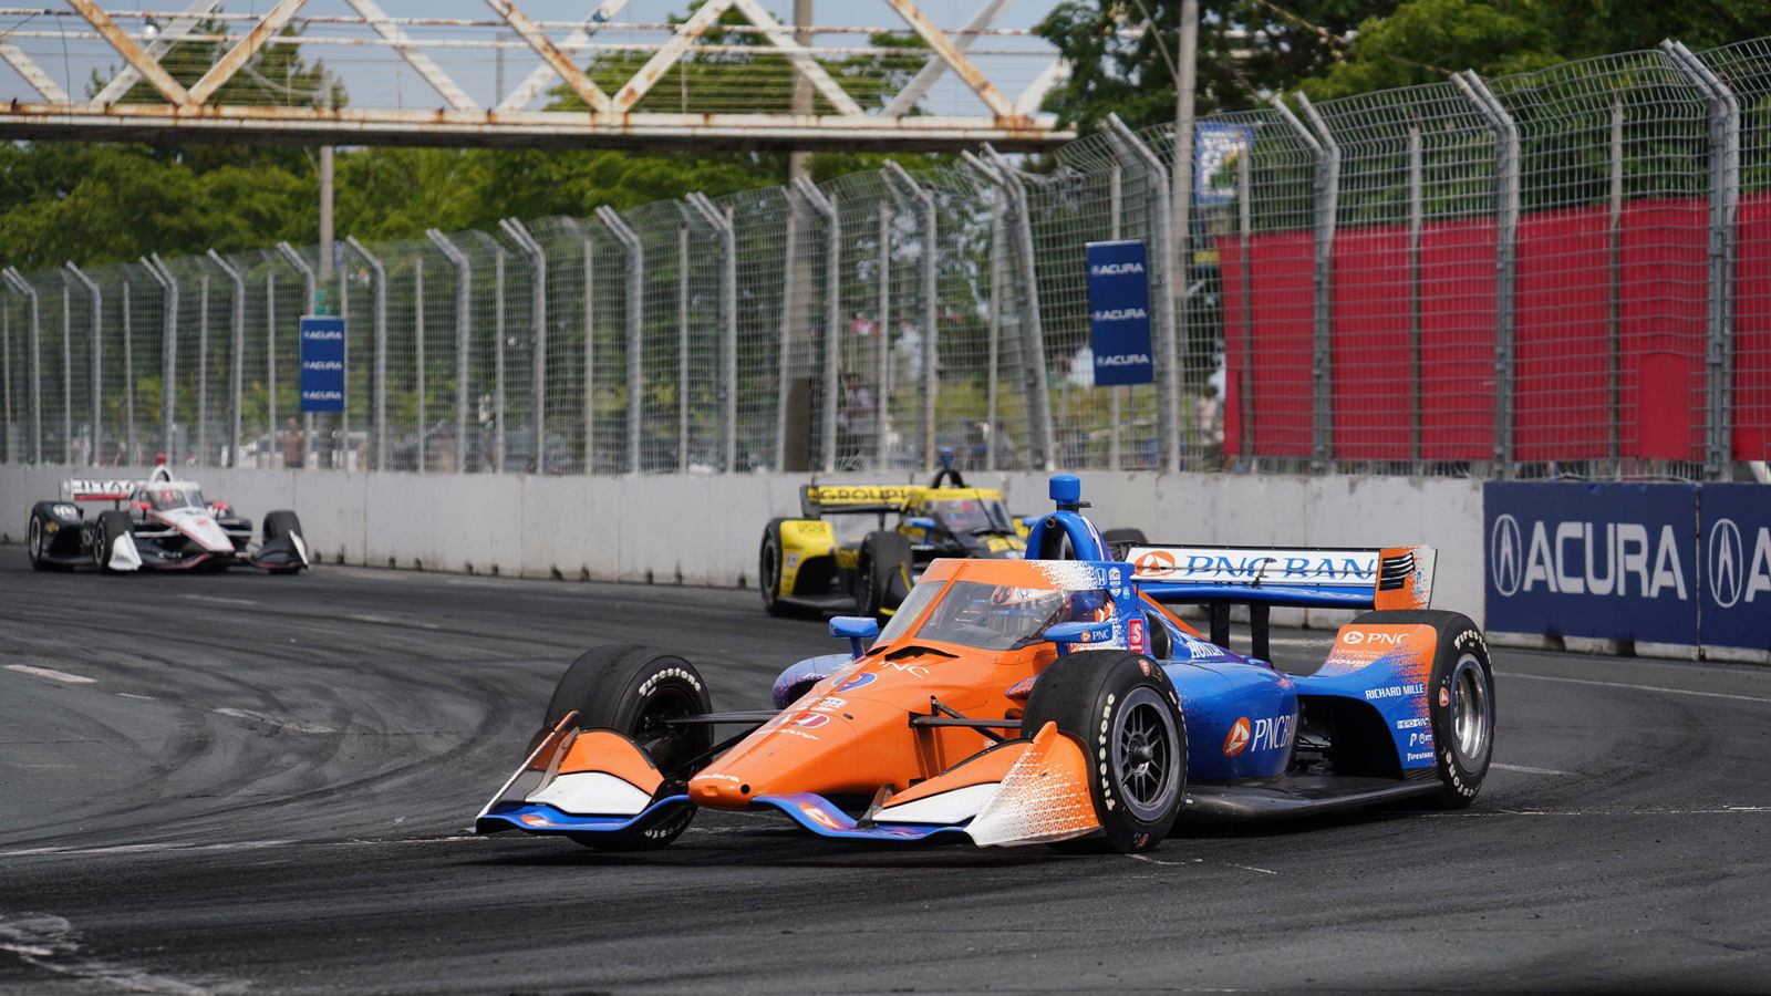
[[[103,477],[145,477],[104,468]],[[21,542],[30,503],[89,468],[0,466],[0,535]],[[200,470],[209,498],[251,519],[301,516],[324,564],[659,585],[754,585],[763,523],[799,512],[802,475],[528,477]],[[924,475],[916,475],[921,480]],[[1482,619],[1482,491],[1470,480],[1082,473],[1102,528],[1156,542],[1438,548],[1433,604]],[[893,475],[905,480],[905,475]],[[878,475],[838,475],[878,482]],[[972,475],[1009,509],[1050,509],[1047,475]],[[1344,611],[1275,613],[1334,626]]]

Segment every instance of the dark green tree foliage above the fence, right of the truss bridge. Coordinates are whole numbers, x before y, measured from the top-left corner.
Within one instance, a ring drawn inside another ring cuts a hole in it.
[[[1047,110],[1082,129],[1109,112],[1174,121],[1179,0],[1068,0],[1036,28],[1071,62]],[[1126,32],[1148,28],[1132,37]],[[1201,115],[1302,89],[1314,99],[1541,69],[1652,48],[1704,50],[1771,34],[1767,0],[1201,0]],[[1169,50],[1164,58],[1160,48]]]

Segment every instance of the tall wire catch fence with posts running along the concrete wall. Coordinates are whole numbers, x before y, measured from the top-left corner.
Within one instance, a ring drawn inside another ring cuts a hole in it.
[[[1725,479],[1771,457],[1771,43],[496,232],[5,271],[0,461]],[[1185,204],[1176,204],[1185,197]],[[1178,239],[1178,207],[1187,232]],[[1086,246],[1149,259],[1096,386]],[[1176,243],[1183,245],[1176,245]],[[345,317],[345,409],[298,317]]]

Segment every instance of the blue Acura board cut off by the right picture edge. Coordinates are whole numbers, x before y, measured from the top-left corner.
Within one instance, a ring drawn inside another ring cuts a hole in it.
[[[1698,512],[1704,645],[1771,650],[1771,486],[1705,484]]]

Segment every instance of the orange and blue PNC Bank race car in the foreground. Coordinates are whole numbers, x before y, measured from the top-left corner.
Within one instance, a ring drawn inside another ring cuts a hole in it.
[[[714,712],[669,652],[586,652],[476,831],[632,851],[712,808],[831,838],[1137,852],[1176,821],[1475,798],[1493,672],[1470,619],[1426,608],[1431,548],[1146,544],[1118,560],[1079,491],[1054,477],[1057,510],[1027,542],[1075,558],[935,560],[884,631],[834,619],[850,652],[786,668],[774,709]],[[1213,638],[1178,604],[1208,606]],[[1226,645],[1233,604],[1252,610],[1249,656]],[[1371,611],[1293,675],[1263,659],[1272,606]]]

